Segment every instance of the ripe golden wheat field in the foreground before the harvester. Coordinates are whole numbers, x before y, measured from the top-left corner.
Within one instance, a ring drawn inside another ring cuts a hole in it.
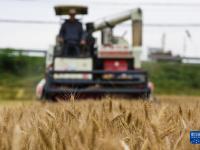
[[[200,130],[195,97],[162,96],[153,102],[103,100],[0,107],[2,150],[192,150]]]

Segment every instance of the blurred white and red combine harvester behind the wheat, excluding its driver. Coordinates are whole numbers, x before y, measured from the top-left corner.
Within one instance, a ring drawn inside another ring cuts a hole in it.
[[[69,9],[77,14],[87,14],[84,6],[56,6],[56,15],[68,15]],[[113,35],[116,25],[131,20],[132,45],[123,37]],[[58,42],[48,51],[46,76],[36,88],[38,98],[68,99],[102,95],[125,95],[148,99],[152,84],[148,74],[141,69],[142,11],[132,9],[118,17],[99,23],[86,24],[86,46],[80,56],[62,55]],[[101,46],[95,47],[93,33],[101,32]]]

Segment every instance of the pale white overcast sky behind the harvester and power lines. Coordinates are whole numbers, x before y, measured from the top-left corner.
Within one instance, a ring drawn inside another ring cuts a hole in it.
[[[58,4],[89,6],[83,22],[100,21],[132,8],[143,10],[143,55],[149,47],[161,47],[181,56],[200,57],[200,26],[150,27],[147,24],[199,24],[199,0],[0,0],[0,20],[40,20],[59,22],[53,7]],[[117,26],[115,34],[131,41],[129,22]],[[59,24],[17,24],[0,22],[0,47],[46,50],[55,43]],[[191,36],[186,34],[186,31]],[[99,34],[95,34],[99,37]]]

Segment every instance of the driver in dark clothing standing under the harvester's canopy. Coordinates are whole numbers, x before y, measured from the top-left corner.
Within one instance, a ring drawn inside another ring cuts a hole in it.
[[[58,41],[63,44],[64,56],[79,56],[80,46],[85,45],[82,23],[76,19],[76,10],[69,10],[69,19],[62,24]]]

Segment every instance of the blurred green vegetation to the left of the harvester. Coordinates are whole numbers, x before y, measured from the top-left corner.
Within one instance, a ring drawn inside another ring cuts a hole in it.
[[[34,99],[35,86],[43,78],[44,68],[42,57],[0,50],[0,99]]]

